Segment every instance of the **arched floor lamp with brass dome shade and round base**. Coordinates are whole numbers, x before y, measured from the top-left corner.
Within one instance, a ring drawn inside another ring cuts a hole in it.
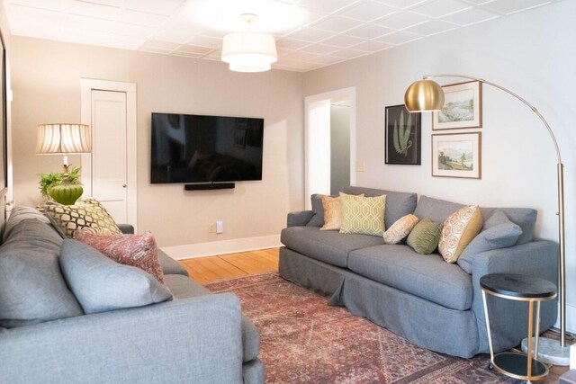
[[[491,85],[495,88],[504,91],[505,93],[511,95],[512,97],[518,99],[520,102],[527,105],[532,112],[536,113],[536,116],[544,123],[545,129],[550,134],[552,142],[554,144],[554,149],[556,151],[557,165],[556,165],[556,177],[557,177],[557,199],[558,199],[558,238],[560,246],[559,263],[558,263],[558,283],[559,283],[559,301],[560,301],[560,342],[552,339],[540,339],[542,354],[544,354],[545,360],[552,362],[557,365],[569,365],[570,363],[570,349],[566,345],[566,247],[565,247],[565,231],[564,231],[564,165],[562,164],[562,157],[560,156],[560,149],[558,148],[558,142],[554,137],[554,132],[550,128],[550,125],[545,120],[544,116],[534,105],[528,103],[524,98],[510,91],[501,85],[492,83],[491,81],[484,80],[482,78],[466,76],[466,75],[428,75],[424,76],[422,80],[418,80],[410,85],[406,90],[404,95],[404,103],[406,103],[406,108],[410,112],[428,112],[428,111],[439,111],[444,105],[444,91],[442,87],[438,85],[431,78],[437,77],[455,77],[463,78],[473,81],[478,81],[482,84]],[[543,343],[544,342],[544,343]],[[541,356],[542,356],[541,354]]]

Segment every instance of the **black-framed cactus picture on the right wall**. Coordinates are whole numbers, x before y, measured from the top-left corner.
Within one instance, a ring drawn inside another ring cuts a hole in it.
[[[421,113],[410,113],[404,105],[386,107],[384,163],[420,165]]]

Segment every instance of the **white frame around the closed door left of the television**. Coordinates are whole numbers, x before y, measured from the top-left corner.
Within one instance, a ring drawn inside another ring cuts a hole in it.
[[[138,170],[137,170],[137,120],[136,84],[108,80],[80,79],[80,119],[92,125],[92,91],[123,92],[126,94],[126,215],[128,224],[138,226]],[[88,166],[85,166],[88,165]],[[92,195],[92,154],[82,155],[82,183]]]

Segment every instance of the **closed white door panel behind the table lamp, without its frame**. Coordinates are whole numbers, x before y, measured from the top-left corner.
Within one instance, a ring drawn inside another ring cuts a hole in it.
[[[92,90],[92,195],[126,223],[126,94]]]

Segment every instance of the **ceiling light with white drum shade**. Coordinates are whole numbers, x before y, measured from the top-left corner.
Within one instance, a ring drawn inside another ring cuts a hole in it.
[[[236,72],[264,72],[270,70],[272,63],[278,60],[274,36],[267,33],[250,31],[251,24],[257,21],[257,15],[244,13],[241,16],[247,23],[247,32],[234,32],[224,36],[222,61]]]

